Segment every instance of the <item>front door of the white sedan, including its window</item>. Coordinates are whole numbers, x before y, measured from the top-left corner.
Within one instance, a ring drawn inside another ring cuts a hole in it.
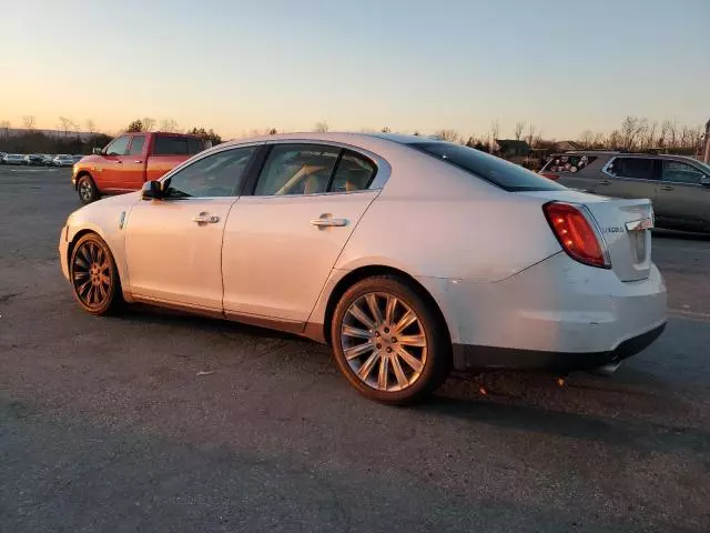
[[[255,148],[210,153],[141,201],[126,230],[130,291],[141,301],[222,312],[222,238]]]

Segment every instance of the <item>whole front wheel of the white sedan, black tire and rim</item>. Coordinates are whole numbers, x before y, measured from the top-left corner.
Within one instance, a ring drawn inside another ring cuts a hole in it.
[[[95,233],[83,235],[72,249],[69,280],[74,300],[88,313],[109,314],[123,301],[119,269],[111,250]]]

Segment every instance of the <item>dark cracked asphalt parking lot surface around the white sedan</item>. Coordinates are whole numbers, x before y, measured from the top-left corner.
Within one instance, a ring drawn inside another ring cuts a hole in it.
[[[655,235],[669,325],[612,378],[397,409],[305,340],[83,313],[78,207],[68,169],[0,167],[0,531],[710,531],[710,237]]]

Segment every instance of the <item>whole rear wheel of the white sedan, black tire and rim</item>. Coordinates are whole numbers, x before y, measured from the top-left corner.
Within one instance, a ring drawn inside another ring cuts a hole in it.
[[[351,286],[335,308],[331,339],[335,362],[347,381],[381,403],[420,400],[452,370],[444,320],[420,290],[394,275],[367,278]]]

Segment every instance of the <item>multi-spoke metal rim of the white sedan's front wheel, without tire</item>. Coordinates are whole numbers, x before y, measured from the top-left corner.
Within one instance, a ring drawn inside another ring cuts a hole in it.
[[[82,242],[72,262],[74,291],[89,308],[100,308],[111,294],[111,260],[98,243]]]

